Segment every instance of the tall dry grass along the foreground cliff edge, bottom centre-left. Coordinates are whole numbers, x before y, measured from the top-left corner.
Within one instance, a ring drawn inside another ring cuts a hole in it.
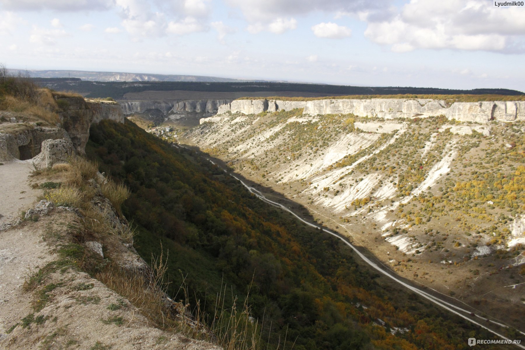
[[[167,257],[161,254],[151,261],[149,280],[140,271],[125,271],[112,263],[95,275],[95,278],[110,289],[127,298],[140,312],[152,321],[155,326],[164,330],[182,333],[187,337],[211,341],[225,350],[255,350],[259,348],[260,332],[258,321],[251,319],[248,298],[237,308],[237,298],[225,307],[226,285],[221,286],[217,294],[215,313],[206,315],[197,302],[190,312],[188,289],[183,281],[179,291],[183,291],[185,302],[174,303],[166,299],[167,283],[164,275],[167,271]],[[173,309],[177,315],[173,315]],[[203,320],[212,320],[209,327]]]

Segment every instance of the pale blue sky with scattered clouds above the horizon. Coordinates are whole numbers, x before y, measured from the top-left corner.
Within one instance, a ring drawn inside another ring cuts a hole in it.
[[[525,7],[493,0],[0,0],[0,47],[13,69],[525,91]]]

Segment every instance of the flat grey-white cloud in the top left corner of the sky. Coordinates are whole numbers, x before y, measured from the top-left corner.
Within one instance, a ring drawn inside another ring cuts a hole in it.
[[[0,0],[6,9],[21,11],[79,11],[108,9],[113,0]]]

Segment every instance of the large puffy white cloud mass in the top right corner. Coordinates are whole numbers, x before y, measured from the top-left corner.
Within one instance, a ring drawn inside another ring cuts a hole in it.
[[[505,10],[484,0],[411,0],[386,20],[369,17],[365,36],[394,52],[423,49],[523,51],[525,8]],[[518,44],[518,45],[516,45]]]

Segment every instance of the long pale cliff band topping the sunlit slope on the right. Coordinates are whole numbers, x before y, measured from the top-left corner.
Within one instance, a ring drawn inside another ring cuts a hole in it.
[[[524,101],[455,102],[448,106],[443,100],[429,99],[369,99],[369,100],[235,100],[218,108],[217,114],[240,112],[257,114],[265,111],[304,108],[303,114],[348,114],[378,116],[385,119],[423,118],[445,115],[448,119],[463,122],[486,123],[490,120],[525,120]]]

